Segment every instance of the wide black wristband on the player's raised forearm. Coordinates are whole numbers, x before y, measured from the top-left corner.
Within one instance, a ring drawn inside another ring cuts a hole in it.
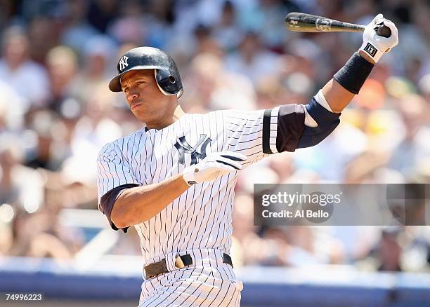
[[[356,52],[349,58],[344,67],[334,74],[333,79],[339,82],[346,90],[353,94],[358,94],[373,67],[374,64]]]

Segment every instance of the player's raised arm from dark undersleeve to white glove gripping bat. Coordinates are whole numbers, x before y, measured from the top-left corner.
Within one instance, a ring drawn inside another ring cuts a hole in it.
[[[391,29],[390,37],[377,35],[375,28],[382,24]],[[377,15],[366,26],[363,45],[358,53],[351,56],[308,104],[304,107],[297,104],[279,107],[277,150],[294,151],[314,146],[330,135],[340,123],[341,111],[359,93],[374,64],[397,44],[396,26],[382,14]]]

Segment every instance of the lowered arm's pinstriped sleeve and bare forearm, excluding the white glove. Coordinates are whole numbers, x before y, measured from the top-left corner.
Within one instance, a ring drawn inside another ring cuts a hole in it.
[[[181,174],[157,184],[141,185],[117,142],[103,147],[97,159],[98,207],[118,230],[154,217],[189,185]]]

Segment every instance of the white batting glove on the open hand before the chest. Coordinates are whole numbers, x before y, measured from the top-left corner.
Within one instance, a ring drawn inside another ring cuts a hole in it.
[[[233,151],[209,153],[202,161],[190,165],[183,170],[183,179],[188,185],[211,182],[233,170],[242,170],[240,162],[246,161],[247,156]]]

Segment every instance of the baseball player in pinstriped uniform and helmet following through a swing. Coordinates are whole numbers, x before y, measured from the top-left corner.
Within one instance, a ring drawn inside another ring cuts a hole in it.
[[[389,38],[374,31],[382,23]],[[397,43],[395,25],[379,14],[363,46],[308,104],[208,114],[184,114],[181,77],[167,53],[139,47],[121,57],[109,88],[124,92],[145,127],[100,151],[98,200],[113,229],[134,226],[141,238],[139,306],[239,306],[242,282],[229,251],[240,170],[321,142]]]

